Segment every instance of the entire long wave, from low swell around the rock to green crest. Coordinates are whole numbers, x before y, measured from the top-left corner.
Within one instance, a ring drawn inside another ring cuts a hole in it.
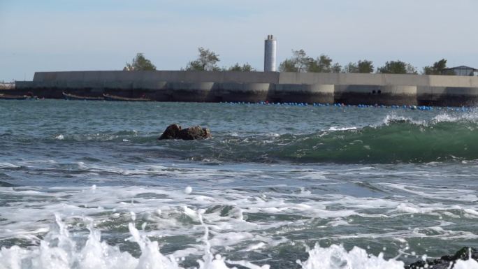
[[[212,128],[213,129],[213,128]],[[430,163],[478,159],[478,116],[440,114],[428,121],[393,112],[368,126],[331,126],[309,133],[215,132],[201,141],[158,141],[160,133],[57,133],[45,143],[137,145],[152,156],[205,162]],[[38,140],[31,138],[31,142]]]

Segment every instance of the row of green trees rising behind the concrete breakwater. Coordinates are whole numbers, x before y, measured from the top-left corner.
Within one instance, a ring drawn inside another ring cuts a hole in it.
[[[198,57],[189,61],[182,71],[256,71],[250,64],[236,63],[229,67],[219,67],[219,54],[206,48],[198,48]],[[131,63],[126,63],[124,71],[156,70],[156,66],[146,59],[142,53],[136,54]],[[310,72],[310,73],[384,73],[384,74],[418,74],[417,68],[404,61],[387,61],[384,66],[375,69],[372,61],[363,59],[342,66],[325,54],[319,57],[310,57],[304,50],[292,50],[292,57],[285,59],[279,65],[281,72]],[[455,75],[447,71],[447,60],[441,59],[431,66],[423,67],[423,75]]]

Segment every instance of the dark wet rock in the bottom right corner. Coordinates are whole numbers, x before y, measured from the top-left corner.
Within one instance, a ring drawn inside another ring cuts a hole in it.
[[[452,269],[455,266],[457,260],[468,260],[470,259],[470,247],[463,247],[458,250],[453,256],[446,255],[442,256],[440,259],[426,259],[426,261],[417,261],[410,264],[410,266],[405,266],[405,269]],[[471,259],[478,261],[478,250],[471,248]],[[428,266],[427,266],[428,265]]]

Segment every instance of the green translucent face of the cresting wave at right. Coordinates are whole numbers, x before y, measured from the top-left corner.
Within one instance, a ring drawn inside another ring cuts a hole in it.
[[[421,163],[478,159],[478,125],[410,119],[298,137],[277,157],[301,162]]]

